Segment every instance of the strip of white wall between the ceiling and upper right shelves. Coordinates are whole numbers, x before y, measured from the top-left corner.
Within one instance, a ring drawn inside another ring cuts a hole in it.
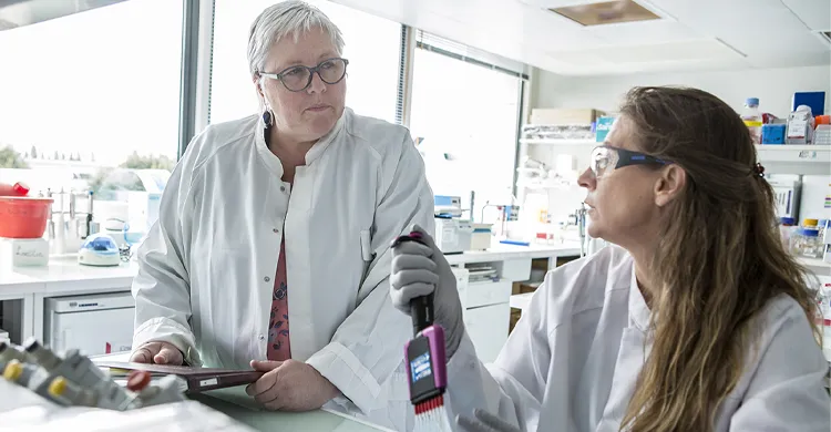
[[[617,109],[636,85],[685,85],[708,91],[740,111],[747,97],[759,97],[763,112],[783,117],[798,91],[824,91],[831,111],[831,66],[782,68],[717,72],[677,72],[614,76],[536,74],[535,107]]]

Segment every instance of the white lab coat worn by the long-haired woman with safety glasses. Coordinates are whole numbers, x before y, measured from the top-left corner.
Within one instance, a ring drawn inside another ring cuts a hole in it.
[[[722,403],[716,432],[831,430],[829,364],[790,297],[769,302],[759,358]],[[526,431],[616,432],[635,389],[649,309],[634,261],[608,246],[545,278],[494,364],[465,336],[448,364],[451,415],[474,408]]]

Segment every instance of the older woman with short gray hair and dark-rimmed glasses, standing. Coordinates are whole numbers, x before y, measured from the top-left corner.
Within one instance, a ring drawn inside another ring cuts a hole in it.
[[[338,28],[286,1],[248,43],[260,112],[187,147],[137,256],[132,360],[248,368],[265,407],[411,428],[390,243],[433,226],[407,128],[345,107]]]

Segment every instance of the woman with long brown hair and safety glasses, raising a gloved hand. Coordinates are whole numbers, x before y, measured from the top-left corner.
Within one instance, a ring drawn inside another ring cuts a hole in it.
[[[716,96],[632,90],[579,177],[588,233],[614,246],[550,271],[488,369],[431,238],[397,246],[392,301],[407,312],[434,290],[459,428],[831,430],[811,278],[779,240],[762,173]]]

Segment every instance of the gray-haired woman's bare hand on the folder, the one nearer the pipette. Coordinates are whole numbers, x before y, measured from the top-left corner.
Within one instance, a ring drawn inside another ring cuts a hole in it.
[[[269,410],[317,410],[340,391],[317,369],[296,360],[252,360],[252,368],[266,372],[245,392]]]

